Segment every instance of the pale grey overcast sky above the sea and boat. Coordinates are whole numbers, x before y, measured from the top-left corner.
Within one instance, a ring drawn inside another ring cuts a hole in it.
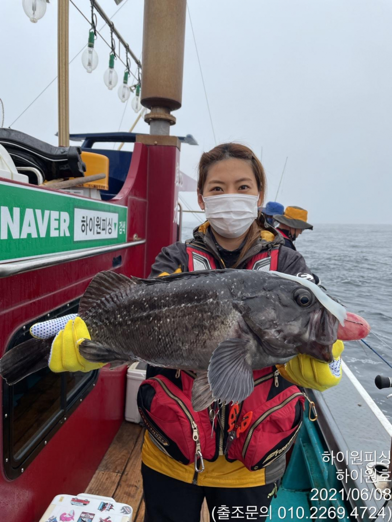
[[[125,3],[126,2],[126,3]],[[89,16],[89,1],[75,0]],[[125,5],[124,5],[125,3]],[[56,76],[56,0],[37,24],[21,0],[2,2],[0,97],[9,126]],[[100,0],[111,16],[114,0]],[[113,22],[137,56],[143,1],[123,0]],[[392,223],[392,1],[189,0],[217,143],[235,140],[260,156],[268,197],[308,209],[312,223]],[[98,17],[97,27],[103,21]],[[87,43],[88,23],[70,5],[70,60]],[[109,38],[106,27],[102,34]],[[96,42],[98,68],[70,65],[71,132],[128,131],[135,113],[108,91],[109,48]],[[121,53],[124,56],[124,52]],[[142,57],[143,61],[143,57]],[[116,62],[119,77],[124,67]],[[133,66],[133,70],[135,67]],[[215,145],[187,15],[183,106],[171,134],[192,134],[181,170],[196,176]],[[57,85],[12,125],[57,144]],[[137,132],[149,132],[140,122]],[[196,199],[187,196],[196,208]]]

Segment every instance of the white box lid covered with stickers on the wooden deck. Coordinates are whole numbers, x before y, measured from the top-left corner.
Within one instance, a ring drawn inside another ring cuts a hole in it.
[[[39,522],[132,522],[132,507],[105,496],[57,495]]]

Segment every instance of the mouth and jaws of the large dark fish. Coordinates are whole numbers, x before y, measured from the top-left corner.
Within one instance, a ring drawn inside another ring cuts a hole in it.
[[[307,342],[298,347],[299,353],[307,353],[319,361],[333,361],[332,347],[338,339],[339,320],[328,310],[316,310],[307,330]]]

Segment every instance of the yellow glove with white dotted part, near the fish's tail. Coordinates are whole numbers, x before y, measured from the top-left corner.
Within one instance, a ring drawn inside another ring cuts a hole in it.
[[[80,355],[78,347],[84,339],[90,339],[90,334],[86,323],[76,314],[36,323],[30,328],[30,334],[38,339],[56,336],[49,357],[52,372],[90,372],[106,364],[88,362]]]

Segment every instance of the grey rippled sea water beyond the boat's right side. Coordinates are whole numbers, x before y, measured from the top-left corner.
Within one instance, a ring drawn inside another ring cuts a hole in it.
[[[197,216],[182,227],[182,240],[192,236]],[[376,375],[392,377],[392,225],[318,224],[305,230],[296,247],[328,293],[361,315],[378,336],[346,342],[342,358],[368,394],[392,422],[392,389],[379,390]],[[388,346],[387,346],[388,345]]]

